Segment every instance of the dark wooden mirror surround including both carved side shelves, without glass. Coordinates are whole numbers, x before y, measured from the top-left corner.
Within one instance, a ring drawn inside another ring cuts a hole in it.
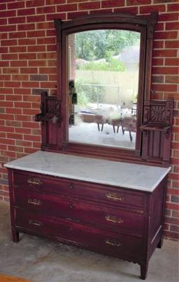
[[[173,101],[151,101],[152,45],[157,12],[136,16],[130,13],[95,14],[62,22],[55,20],[57,34],[57,96],[41,94],[42,144],[45,151],[93,156],[117,161],[169,165]],[[94,29],[125,29],[141,33],[138,80],[136,149],[69,142],[67,94],[67,36]]]

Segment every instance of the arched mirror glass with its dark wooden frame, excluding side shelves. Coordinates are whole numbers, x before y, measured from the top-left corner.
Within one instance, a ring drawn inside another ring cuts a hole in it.
[[[156,20],[157,13],[55,20],[62,147],[84,154],[90,149],[94,155],[141,154],[139,128],[150,91]]]

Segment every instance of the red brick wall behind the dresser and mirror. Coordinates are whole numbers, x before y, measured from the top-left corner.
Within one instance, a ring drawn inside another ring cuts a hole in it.
[[[175,99],[166,202],[165,235],[179,233],[179,94],[178,0],[1,0],[0,3],[0,200],[8,201],[8,181],[3,163],[40,148],[39,112],[41,89],[56,93],[56,45],[54,18],[71,20],[96,12],[159,11],[153,52],[152,88],[155,99]]]

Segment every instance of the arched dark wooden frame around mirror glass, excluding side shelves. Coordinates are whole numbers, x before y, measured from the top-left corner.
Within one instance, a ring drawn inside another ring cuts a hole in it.
[[[143,100],[150,99],[150,78],[151,78],[151,61],[152,61],[152,38],[157,13],[149,16],[138,17],[129,13],[101,14],[90,15],[72,20],[61,22],[55,20],[57,31],[57,57],[58,57],[58,91],[57,100],[62,103],[62,148],[66,151],[79,152],[86,154],[90,152],[96,156],[117,157],[125,154],[126,156],[141,155],[141,131],[140,126],[143,120]],[[138,31],[141,33],[140,63],[139,63],[139,82],[138,82],[138,106],[137,106],[137,124],[136,124],[136,149],[122,149],[120,147],[105,147],[94,144],[84,144],[78,142],[69,142],[69,119],[67,117],[67,93],[68,89],[68,66],[67,66],[67,36],[80,31],[89,31],[94,29],[124,29]],[[145,69],[148,70],[145,72]]]

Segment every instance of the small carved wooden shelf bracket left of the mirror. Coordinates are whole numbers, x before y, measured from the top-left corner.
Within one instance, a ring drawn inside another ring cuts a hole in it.
[[[47,92],[41,94],[41,113],[36,114],[35,121],[52,121],[57,124],[62,121],[60,103],[56,96],[48,96]]]

